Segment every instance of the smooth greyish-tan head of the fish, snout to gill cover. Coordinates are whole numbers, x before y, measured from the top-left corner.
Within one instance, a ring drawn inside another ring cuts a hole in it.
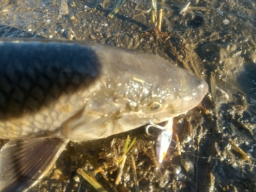
[[[116,55],[120,63],[108,57],[112,52],[97,54],[104,60],[100,89],[62,126],[71,140],[105,138],[169,120],[197,106],[208,91],[204,80],[156,55],[127,51]]]

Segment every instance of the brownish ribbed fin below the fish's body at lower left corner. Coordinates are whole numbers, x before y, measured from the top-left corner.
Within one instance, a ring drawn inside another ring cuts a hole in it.
[[[68,139],[15,139],[0,154],[0,191],[26,191],[53,166]]]

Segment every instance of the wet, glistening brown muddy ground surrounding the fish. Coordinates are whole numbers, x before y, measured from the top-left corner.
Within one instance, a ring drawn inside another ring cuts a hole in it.
[[[187,1],[158,2],[163,33],[151,29],[150,1],[127,0],[110,19],[114,3],[68,1],[68,13],[59,15],[60,1],[1,0],[0,36],[91,40],[151,52],[201,76],[216,94],[209,90],[200,107],[175,119],[184,152],[170,147],[162,164],[156,162],[155,138],[141,127],[107,139],[69,143],[31,191],[96,191],[77,168],[89,174],[103,163],[116,162],[127,135],[137,141],[127,154],[118,191],[136,191],[134,175],[140,191],[256,191],[255,1],[194,1],[183,15],[180,10]],[[251,161],[234,150],[229,139]],[[112,169],[104,174],[114,184],[118,166]],[[113,191],[102,175],[95,177]]]

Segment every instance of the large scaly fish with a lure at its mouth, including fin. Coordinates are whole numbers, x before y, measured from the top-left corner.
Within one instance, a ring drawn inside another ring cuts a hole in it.
[[[0,38],[0,191],[27,191],[67,143],[195,108],[208,91],[157,55],[90,41]]]

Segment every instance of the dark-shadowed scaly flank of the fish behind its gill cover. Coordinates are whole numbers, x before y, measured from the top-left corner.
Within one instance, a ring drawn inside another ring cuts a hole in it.
[[[72,61],[72,57],[78,60],[90,57],[80,56],[81,50],[76,45],[72,49],[77,54],[73,55],[69,55],[69,50],[60,50],[57,44],[49,43],[45,47],[39,42],[29,46],[15,43],[4,46],[5,54],[1,54],[1,63],[8,65],[1,65],[0,76],[2,138],[31,136],[34,127],[44,131],[38,135],[44,133],[43,136],[48,136],[50,133],[46,134],[47,131],[55,131],[55,127],[59,127],[63,121],[82,108],[84,95],[79,92],[78,87],[84,85],[84,76],[95,76],[96,69],[87,65],[80,66],[78,62]],[[52,51],[49,52],[49,49]],[[2,50],[1,52],[3,53]],[[66,54],[65,59],[56,58],[60,53]],[[27,57],[28,55],[30,57]],[[83,77],[81,72],[85,72]],[[71,96],[74,92],[76,94]],[[30,114],[33,120],[28,120],[27,114]],[[20,120],[20,116],[25,118]],[[46,121],[47,116],[52,118]],[[11,130],[23,131],[17,134],[12,131],[12,136],[8,133],[6,135],[9,130],[6,124],[8,119],[11,119]],[[49,126],[45,126],[46,122]],[[51,124],[53,126],[50,126]]]

